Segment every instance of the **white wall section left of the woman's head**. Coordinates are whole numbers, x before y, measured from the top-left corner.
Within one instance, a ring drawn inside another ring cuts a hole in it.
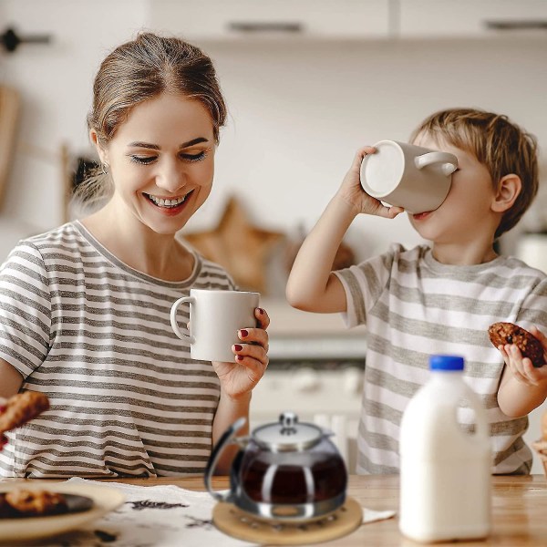
[[[62,219],[62,142],[86,150],[92,80],[108,50],[144,20],[144,0],[0,0],[0,33],[51,35],[50,45],[0,48],[0,82],[19,90],[23,112],[0,209],[0,261],[16,241]],[[1,115],[1,114],[0,114]]]

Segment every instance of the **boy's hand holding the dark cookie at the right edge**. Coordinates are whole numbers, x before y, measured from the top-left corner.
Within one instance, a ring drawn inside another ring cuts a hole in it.
[[[547,354],[547,337],[535,326],[530,332],[540,340],[543,352]],[[547,365],[535,368],[530,359],[522,358],[515,345],[508,344],[498,349],[506,364],[498,390],[501,412],[511,418],[526,416],[547,397]]]

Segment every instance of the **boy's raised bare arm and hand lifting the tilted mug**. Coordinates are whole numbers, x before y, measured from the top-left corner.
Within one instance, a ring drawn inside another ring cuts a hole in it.
[[[331,270],[349,225],[360,212],[389,219],[403,212],[400,207],[384,206],[361,187],[361,162],[375,151],[373,147],[357,150],[340,189],[300,247],[286,287],[287,301],[294,307],[307,312],[345,312],[346,293]]]

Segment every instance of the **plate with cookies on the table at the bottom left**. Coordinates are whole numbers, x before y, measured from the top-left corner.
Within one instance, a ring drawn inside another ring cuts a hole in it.
[[[0,544],[76,530],[123,502],[123,494],[107,486],[50,480],[0,483]]]

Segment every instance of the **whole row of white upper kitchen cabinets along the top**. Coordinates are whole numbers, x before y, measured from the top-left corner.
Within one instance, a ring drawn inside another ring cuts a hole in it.
[[[191,41],[547,36],[546,0],[149,0],[147,26]]]

